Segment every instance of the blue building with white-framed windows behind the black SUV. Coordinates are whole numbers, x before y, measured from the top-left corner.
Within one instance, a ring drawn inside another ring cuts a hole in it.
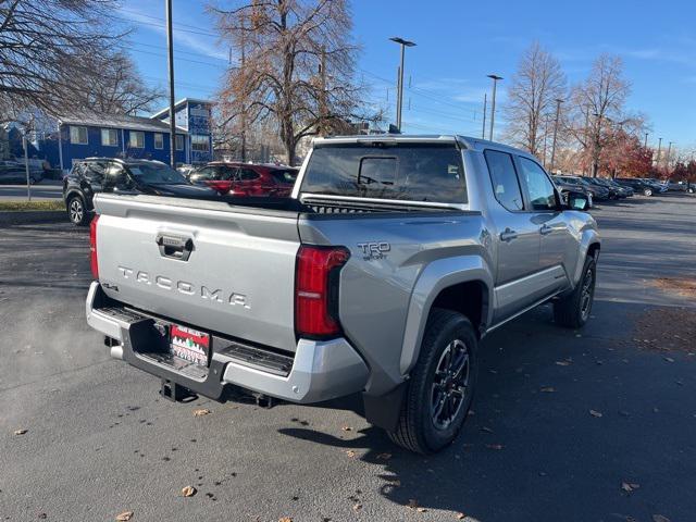
[[[211,104],[185,98],[175,105],[176,163],[212,160]],[[169,109],[151,117],[84,112],[58,119],[58,136],[47,137],[47,160],[70,170],[89,157],[137,158],[170,162]],[[58,141],[58,144],[55,144]]]

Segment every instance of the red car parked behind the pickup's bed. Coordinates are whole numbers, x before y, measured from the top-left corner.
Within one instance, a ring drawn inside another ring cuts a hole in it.
[[[290,166],[214,161],[194,171],[189,181],[220,194],[287,197],[297,173],[298,170]]]

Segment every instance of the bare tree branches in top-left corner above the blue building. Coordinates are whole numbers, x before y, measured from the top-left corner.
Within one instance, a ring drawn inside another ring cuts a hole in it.
[[[0,110],[47,113],[79,104],[76,77],[95,69],[122,34],[110,16],[114,0],[0,1]]]

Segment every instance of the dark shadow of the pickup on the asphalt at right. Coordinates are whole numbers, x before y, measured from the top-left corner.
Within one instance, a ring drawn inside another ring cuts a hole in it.
[[[481,349],[473,413],[435,456],[401,450],[375,427],[345,438],[279,432],[373,464],[380,494],[405,506],[405,517],[417,502],[450,511],[445,520],[461,512],[482,522],[688,518],[696,507],[684,496],[696,476],[686,428],[696,413],[696,361],[670,355],[675,363],[666,363],[631,343],[633,314],[646,310],[597,301],[597,319],[573,333],[542,307],[492,334]],[[355,397],[326,406],[360,411]],[[639,495],[623,482],[641,484]]]

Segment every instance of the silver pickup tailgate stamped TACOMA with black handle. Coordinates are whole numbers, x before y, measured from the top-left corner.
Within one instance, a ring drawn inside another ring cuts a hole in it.
[[[150,196],[95,199],[99,281],[156,314],[294,351],[298,213]]]

